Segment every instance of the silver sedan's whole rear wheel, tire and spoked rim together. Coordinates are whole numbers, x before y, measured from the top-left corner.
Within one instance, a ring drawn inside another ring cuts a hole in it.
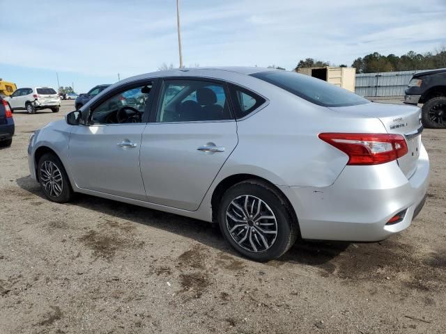
[[[277,259],[298,237],[298,223],[282,195],[266,182],[231,186],[218,212],[220,229],[239,253],[256,261]]]

